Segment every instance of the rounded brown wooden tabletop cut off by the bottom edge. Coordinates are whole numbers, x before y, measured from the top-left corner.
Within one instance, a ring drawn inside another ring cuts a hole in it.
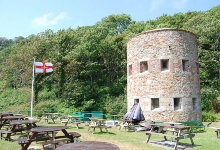
[[[78,143],[70,143],[59,146],[56,150],[120,150],[117,145],[107,143],[107,142],[98,142],[98,141],[85,141]]]

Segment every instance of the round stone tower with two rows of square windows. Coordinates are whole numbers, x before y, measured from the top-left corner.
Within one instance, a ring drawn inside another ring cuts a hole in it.
[[[156,29],[127,42],[128,109],[145,119],[202,121],[198,43],[186,30]]]

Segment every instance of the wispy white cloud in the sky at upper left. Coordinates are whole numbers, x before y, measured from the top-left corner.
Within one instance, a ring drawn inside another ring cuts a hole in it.
[[[32,24],[36,27],[48,27],[57,24],[59,21],[67,17],[66,12],[61,12],[57,16],[52,13],[45,14],[32,20]]]

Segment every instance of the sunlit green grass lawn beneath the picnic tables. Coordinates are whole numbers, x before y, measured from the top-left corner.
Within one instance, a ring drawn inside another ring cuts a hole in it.
[[[204,123],[207,124],[207,123]],[[38,125],[63,125],[59,120],[56,120],[56,123],[53,124],[52,121],[45,123],[43,120],[38,123]],[[146,144],[145,141],[147,136],[144,132],[134,132],[134,131],[124,131],[123,129],[118,130],[116,127],[109,129],[109,134],[106,132],[99,132],[99,129],[96,129],[95,133],[92,134],[92,131],[88,132],[88,127],[85,126],[85,123],[81,123],[80,128],[77,129],[75,124],[68,124],[67,131],[74,131],[80,133],[82,136],[81,141],[103,141],[113,143],[118,145],[120,150],[162,150],[162,149],[172,149],[172,147],[165,147],[160,145]],[[216,133],[212,127],[220,127],[220,122],[214,122],[211,124],[211,127],[206,128],[205,132],[196,133],[193,138],[195,146],[191,147],[189,139],[180,140],[180,145],[188,145],[186,150],[196,149],[196,150],[217,150],[220,148],[220,139],[217,139]],[[23,132],[25,133],[25,131]],[[58,133],[59,134],[59,133]],[[17,143],[16,139],[18,136],[21,136],[21,133],[17,133],[12,138],[14,141],[8,142],[0,140],[0,149],[2,150],[20,150],[21,146]],[[163,137],[152,135],[151,140],[163,140]],[[30,148],[35,148],[36,150],[41,150],[42,146],[37,142],[33,142]],[[46,148],[50,150],[50,148]]]

